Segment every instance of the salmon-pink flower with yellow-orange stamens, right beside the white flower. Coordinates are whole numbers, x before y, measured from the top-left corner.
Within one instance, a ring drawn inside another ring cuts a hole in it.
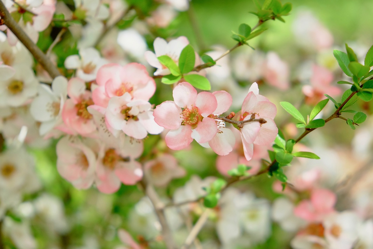
[[[72,78],[68,82],[69,99],[62,109],[62,120],[65,126],[58,129],[68,134],[88,135],[96,131],[92,115],[87,107],[93,105],[91,92],[85,89],[85,83],[79,78]]]

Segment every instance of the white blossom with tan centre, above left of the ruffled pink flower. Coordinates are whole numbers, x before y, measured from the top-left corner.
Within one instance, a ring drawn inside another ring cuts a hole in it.
[[[96,79],[98,69],[107,61],[93,47],[79,50],[79,55],[70,55],[65,60],[67,69],[76,69],[76,76],[88,82]]]

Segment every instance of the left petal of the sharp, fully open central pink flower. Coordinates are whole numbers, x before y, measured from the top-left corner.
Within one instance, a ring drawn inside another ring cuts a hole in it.
[[[162,104],[157,105],[154,110],[154,121],[160,126],[175,130],[181,125],[181,108],[178,107],[173,101],[164,101]]]

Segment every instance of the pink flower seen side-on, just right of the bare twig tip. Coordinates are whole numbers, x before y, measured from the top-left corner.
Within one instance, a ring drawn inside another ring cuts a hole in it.
[[[236,115],[240,121],[251,119],[264,119],[266,123],[259,122],[244,123],[240,128],[242,145],[247,160],[253,157],[253,144],[268,145],[275,141],[277,136],[277,126],[273,121],[276,116],[277,108],[266,97],[259,95],[258,84],[251,85],[249,93],[242,103],[241,113]]]

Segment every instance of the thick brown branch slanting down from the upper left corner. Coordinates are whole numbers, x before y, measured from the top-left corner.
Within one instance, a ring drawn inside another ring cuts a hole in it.
[[[50,59],[35,45],[34,42],[27,36],[25,31],[17,24],[17,22],[10,15],[4,3],[0,1],[0,16],[2,24],[5,24],[10,31],[20,40],[23,45],[31,52],[34,58],[43,66],[48,74],[54,79],[60,76],[57,67],[50,61]]]

